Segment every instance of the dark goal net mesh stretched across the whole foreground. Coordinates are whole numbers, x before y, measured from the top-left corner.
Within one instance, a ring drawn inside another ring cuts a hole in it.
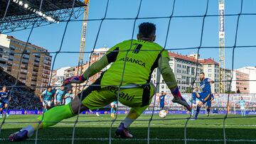
[[[7,11],[9,11],[9,4],[10,4],[10,0],[8,1],[8,4],[7,4],[7,7],[6,7],[6,11],[4,13],[4,17],[2,18],[2,21],[4,21],[5,19],[5,16],[6,16],[6,13]],[[41,0],[41,6],[43,4],[43,0]],[[72,7],[72,11],[70,14],[70,17],[68,18],[67,21],[61,21],[61,23],[65,23],[65,28],[63,30],[63,34],[62,34],[62,38],[60,40],[60,47],[57,51],[55,52],[48,52],[50,54],[55,54],[55,56],[53,57],[53,65],[51,67],[51,73],[50,74],[53,74],[53,69],[55,67],[55,60],[56,60],[56,57],[60,54],[60,53],[79,53],[78,51],[63,51],[62,48],[63,48],[63,43],[65,41],[65,34],[66,34],[66,31],[67,31],[67,28],[69,26],[69,23],[70,22],[82,22],[82,21],[100,21],[100,26],[99,28],[97,29],[97,35],[96,35],[96,38],[95,38],[95,42],[94,42],[94,45],[93,45],[93,48],[91,51],[86,51],[85,53],[87,54],[90,54],[90,60],[89,60],[89,65],[91,65],[91,58],[92,58],[92,52],[94,52],[95,48],[96,48],[96,45],[97,45],[97,40],[99,39],[100,37],[100,31],[102,31],[102,23],[104,21],[134,21],[133,22],[133,26],[132,26],[132,37],[131,39],[134,38],[134,33],[135,33],[135,29],[136,29],[136,23],[137,21],[146,21],[148,19],[161,19],[161,18],[167,18],[168,19],[168,25],[167,25],[167,28],[166,28],[166,36],[164,38],[164,49],[165,50],[196,50],[197,51],[197,55],[200,55],[201,54],[201,50],[203,49],[218,49],[219,47],[216,47],[216,46],[203,46],[203,37],[205,35],[205,25],[206,25],[206,18],[207,17],[218,17],[219,15],[214,15],[214,14],[208,14],[208,9],[209,9],[209,1],[207,0],[206,1],[206,6],[204,7],[204,13],[201,14],[201,15],[193,15],[193,16],[174,16],[174,11],[176,10],[176,1],[172,1],[172,4],[171,4],[171,13],[169,14],[169,16],[155,16],[155,17],[139,17],[139,14],[140,14],[140,11],[141,11],[141,8],[142,8],[142,0],[139,1],[139,6],[138,6],[138,9],[137,9],[137,15],[136,17],[134,18],[107,18],[107,12],[108,12],[108,9],[109,9],[109,6],[110,6],[110,1],[107,0],[107,3],[105,4],[105,14],[102,18],[94,18],[94,19],[87,19],[87,20],[80,20],[80,19],[77,19],[77,20],[71,20],[71,16],[73,15],[73,9],[74,9],[74,4],[75,4],[75,0],[73,1],[73,7]],[[41,11],[41,6],[40,6],[40,9],[39,11]],[[233,71],[234,70],[234,64],[235,64],[235,50],[237,50],[238,48],[242,48],[242,49],[245,49],[245,48],[255,48],[256,45],[237,45],[237,41],[238,41],[238,29],[239,29],[239,24],[240,24],[240,17],[241,16],[253,16],[255,15],[256,13],[242,13],[243,11],[243,1],[241,0],[240,1],[240,10],[238,11],[238,13],[235,13],[235,14],[225,14],[225,16],[236,16],[237,17],[237,21],[235,22],[235,40],[234,40],[234,44],[233,46],[227,46],[225,48],[227,49],[231,49],[232,50],[232,68],[231,70]],[[201,18],[202,21],[201,21],[201,29],[200,29],[200,44],[194,48],[166,48],[167,47],[167,43],[168,43],[168,40],[169,40],[169,31],[171,29],[171,21],[173,20],[173,18]],[[39,19],[39,16],[38,16],[38,19]],[[16,54],[21,54],[21,57],[23,57],[24,54],[26,54],[26,47],[27,47],[27,44],[31,38],[31,33],[33,32],[34,28],[36,27],[35,26],[35,23],[37,21],[34,21],[33,23],[33,26],[30,30],[30,33],[28,35],[28,38],[26,40],[26,45],[25,45],[25,49],[23,50],[23,52],[21,53],[16,53]],[[130,48],[129,50],[132,48],[132,43],[130,45]],[[128,51],[129,51],[128,50]],[[128,51],[127,51],[127,54],[128,54]],[[30,53],[33,53],[33,52],[29,52]],[[37,52],[37,53],[43,53],[43,52]],[[127,55],[126,55],[127,57]],[[76,57],[75,57],[76,58]],[[19,66],[18,66],[18,74],[19,74],[19,71],[21,70],[21,62],[22,62],[22,58],[21,60],[19,61]],[[199,63],[198,59],[197,59],[197,63]],[[122,70],[122,76],[124,75],[124,71],[125,71],[125,65],[126,65],[126,62],[124,62],[124,68]],[[161,68],[161,67],[160,67]],[[196,73],[195,73],[195,77],[196,79],[198,78],[198,65],[196,66]],[[19,86],[17,85],[18,83],[18,74],[16,76],[16,82],[14,85],[9,85],[7,87],[10,87],[11,88],[11,92],[14,91],[14,88],[16,87],[23,87],[23,86]],[[123,78],[123,77],[122,77]],[[194,85],[198,82],[196,82],[196,79],[193,80],[193,82],[191,82],[191,87],[193,89]],[[50,75],[50,81],[51,81],[51,75]],[[231,83],[233,81],[237,81],[237,80],[233,80],[233,74],[231,74],[231,77],[230,79],[225,79],[223,80],[225,82],[228,82],[228,92],[231,92]],[[240,81],[243,81],[243,80],[240,80]],[[250,81],[256,81],[256,80],[250,80]],[[122,81],[120,82],[119,86],[122,85],[122,82],[123,82],[123,79]],[[49,82],[50,84],[50,82]],[[157,87],[159,87],[159,84],[163,84],[163,82],[160,82],[160,79],[158,79],[157,82],[154,83]],[[85,89],[85,87],[87,87],[89,84],[88,83],[85,83],[83,85],[83,89]],[[50,86],[50,85],[49,85]],[[44,88],[47,88],[47,87],[44,87]],[[118,95],[119,95],[119,91],[120,91],[120,87],[118,89]],[[82,95],[82,94],[81,94]],[[223,142],[224,143],[227,143],[227,138],[226,138],[226,131],[225,131],[225,122],[227,120],[227,118],[238,118],[237,116],[228,116],[228,106],[230,105],[230,94],[225,94],[225,96],[228,97],[227,101],[225,102],[225,106],[226,106],[226,109],[225,111],[227,111],[225,113],[225,115],[223,117],[218,117],[218,118],[208,118],[208,119],[223,119]],[[137,121],[146,121],[147,124],[148,124],[148,129],[147,129],[147,138],[145,139],[147,141],[147,143],[150,143],[150,140],[154,140],[154,138],[151,138],[150,136],[150,128],[151,128],[151,121],[174,121],[174,120],[186,120],[183,128],[184,128],[184,137],[183,140],[184,143],[187,143],[188,140],[191,140],[191,139],[188,139],[188,133],[187,133],[187,126],[188,126],[188,121],[191,119],[191,115],[188,116],[187,118],[165,118],[165,119],[159,119],[159,118],[153,118],[154,116],[154,111],[155,111],[155,106],[156,106],[156,96],[154,96],[153,98],[154,100],[154,104],[153,104],[153,107],[151,108],[151,116],[149,119],[139,119]],[[118,99],[119,100],[119,96],[118,96]],[[7,108],[8,110],[9,108]],[[119,106],[117,106],[117,110],[119,109]],[[43,115],[44,116],[44,115]],[[119,114],[117,114],[115,116],[115,118],[111,121],[111,124],[110,124],[110,131],[109,131],[109,138],[106,138],[105,140],[109,140],[109,143],[112,143],[112,126],[115,122],[119,122],[120,120],[117,118],[119,116]],[[252,116],[250,116],[252,117]],[[73,123],[73,134],[72,134],[72,143],[75,143],[75,133],[78,133],[78,131],[76,131],[76,127],[77,127],[77,124],[78,123],[90,123],[90,122],[95,122],[95,121],[79,121],[79,118],[80,118],[80,114],[78,114],[78,116],[75,117],[75,121],[65,121],[65,123]],[[204,118],[201,118],[201,119],[204,119]],[[4,115],[4,118],[3,118],[3,121],[1,122],[1,127],[0,127],[0,134],[2,133],[2,127],[4,126],[4,124],[6,123],[6,115]],[[97,120],[98,123],[101,123],[101,122],[106,122],[107,120]],[[7,122],[8,123],[8,122]],[[10,123],[10,122],[9,122]],[[19,122],[14,122],[14,123],[19,123]],[[20,122],[20,123],[23,123],[23,122]],[[26,122],[26,123],[29,123],[29,122]],[[38,123],[38,126],[39,126],[39,123]],[[38,143],[38,133],[40,133],[39,131],[36,131],[36,138],[34,139],[35,140],[35,143]],[[93,139],[93,138],[92,138]],[[104,138],[102,138],[104,139]],[[87,139],[88,140],[88,139]],[[138,139],[139,140],[139,139]],[[175,140],[175,139],[173,139]],[[191,140],[193,141],[193,140]],[[206,140],[207,141],[207,140]],[[218,140],[217,140],[218,141]],[[252,140],[253,141],[253,140]]]

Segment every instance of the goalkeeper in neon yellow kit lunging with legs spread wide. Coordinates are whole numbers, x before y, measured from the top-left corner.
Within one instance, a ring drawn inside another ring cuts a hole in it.
[[[151,74],[156,67],[164,77],[164,81],[174,95],[174,103],[181,104],[191,111],[185,99],[178,90],[174,73],[169,66],[169,54],[160,45],[153,43],[156,39],[156,26],[153,23],[139,25],[138,40],[125,40],[114,45],[100,60],[93,63],[81,76],[65,79],[64,84],[82,83],[104,67],[111,67],[101,74],[101,77],[90,87],[75,96],[68,105],[55,106],[44,116],[39,116],[29,126],[9,136],[10,141],[25,140],[33,135],[36,128],[54,126],[65,118],[78,114],[87,109],[99,109],[102,106],[117,101],[131,107],[129,114],[119,124],[115,135],[121,138],[132,138],[129,126],[149,106],[154,96],[154,85],[150,84]],[[125,65],[124,65],[125,64]],[[124,70],[124,74],[123,73]],[[79,109],[80,108],[80,109]],[[39,126],[38,126],[39,123]]]

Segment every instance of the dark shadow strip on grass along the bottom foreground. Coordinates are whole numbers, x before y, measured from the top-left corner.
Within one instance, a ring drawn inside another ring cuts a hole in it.
[[[134,138],[129,140],[114,137],[115,128],[112,128],[112,143],[146,143],[147,128],[130,128]],[[10,133],[18,129],[5,128],[1,131],[0,143],[9,143],[7,140]],[[75,131],[75,143],[109,143],[109,131],[107,127],[77,127]],[[71,127],[51,127],[38,131],[38,143],[71,143],[73,128]],[[151,128],[151,143],[184,143],[184,128]],[[255,140],[256,131],[254,128],[226,128],[226,138],[228,143],[249,143],[235,141],[238,139]],[[4,140],[2,139],[4,138]],[[22,143],[35,143],[34,136],[32,140],[26,140]],[[157,140],[157,138],[159,140]],[[187,128],[187,138],[189,139],[223,139],[222,128]],[[188,143],[223,143],[223,141],[188,141]],[[252,142],[250,142],[252,143]],[[256,143],[253,142],[253,143]]]

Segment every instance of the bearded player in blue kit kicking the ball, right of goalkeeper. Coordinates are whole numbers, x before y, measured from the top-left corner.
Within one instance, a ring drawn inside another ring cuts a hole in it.
[[[198,117],[198,113],[201,109],[201,107],[203,106],[203,104],[205,104],[206,102],[211,100],[211,90],[210,90],[210,84],[213,84],[213,80],[212,79],[208,79],[205,77],[205,74],[203,72],[200,73],[200,88],[202,89],[201,93],[198,92],[193,92],[192,96],[193,96],[193,103],[195,103],[196,98],[199,99],[198,101],[198,105],[196,106],[196,115],[194,119],[197,119]]]

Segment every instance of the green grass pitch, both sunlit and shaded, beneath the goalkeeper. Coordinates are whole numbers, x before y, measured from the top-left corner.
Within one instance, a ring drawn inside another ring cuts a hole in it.
[[[224,115],[210,115],[210,118],[223,118]],[[256,143],[256,118],[248,116],[242,118],[240,115],[230,115],[236,118],[228,118],[225,121],[227,143]],[[32,122],[36,115],[9,116],[6,118],[1,135],[0,143],[9,143],[10,133],[18,131],[27,123]],[[112,143],[146,143],[147,129],[149,121],[135,121],[130,127],[134,138],[124,140],[114,137],[115,128],[119,121],[124,119],[125,115],[119,115],[112,128]],[[188,115],[171,115],[161,119],[154,115],[150,126],[150,143],[184,143],[184,124]],[[206,118],[204,114],[199,115],[196,121],[188,121],[187,138],[188,143],[223,143],[223,119]],[[58,123],[56,126],[45,128],[38,131],[38,143],[71,143],[73,126],[75,118],[69,118]],[[143,114],[139,120],[149,120],[150,115]],[[177,118],[171,120],[167,118]],[[3,118],[0,119],[0,122]],[[90,115],[80,115],[75,131],[75,143],[109,143],[110,124],[112,123],[110,115],[101,115],[99,117]],[[92,122],[93,121],[93,122]],[[35,143],[34,136],[21,143]]]

